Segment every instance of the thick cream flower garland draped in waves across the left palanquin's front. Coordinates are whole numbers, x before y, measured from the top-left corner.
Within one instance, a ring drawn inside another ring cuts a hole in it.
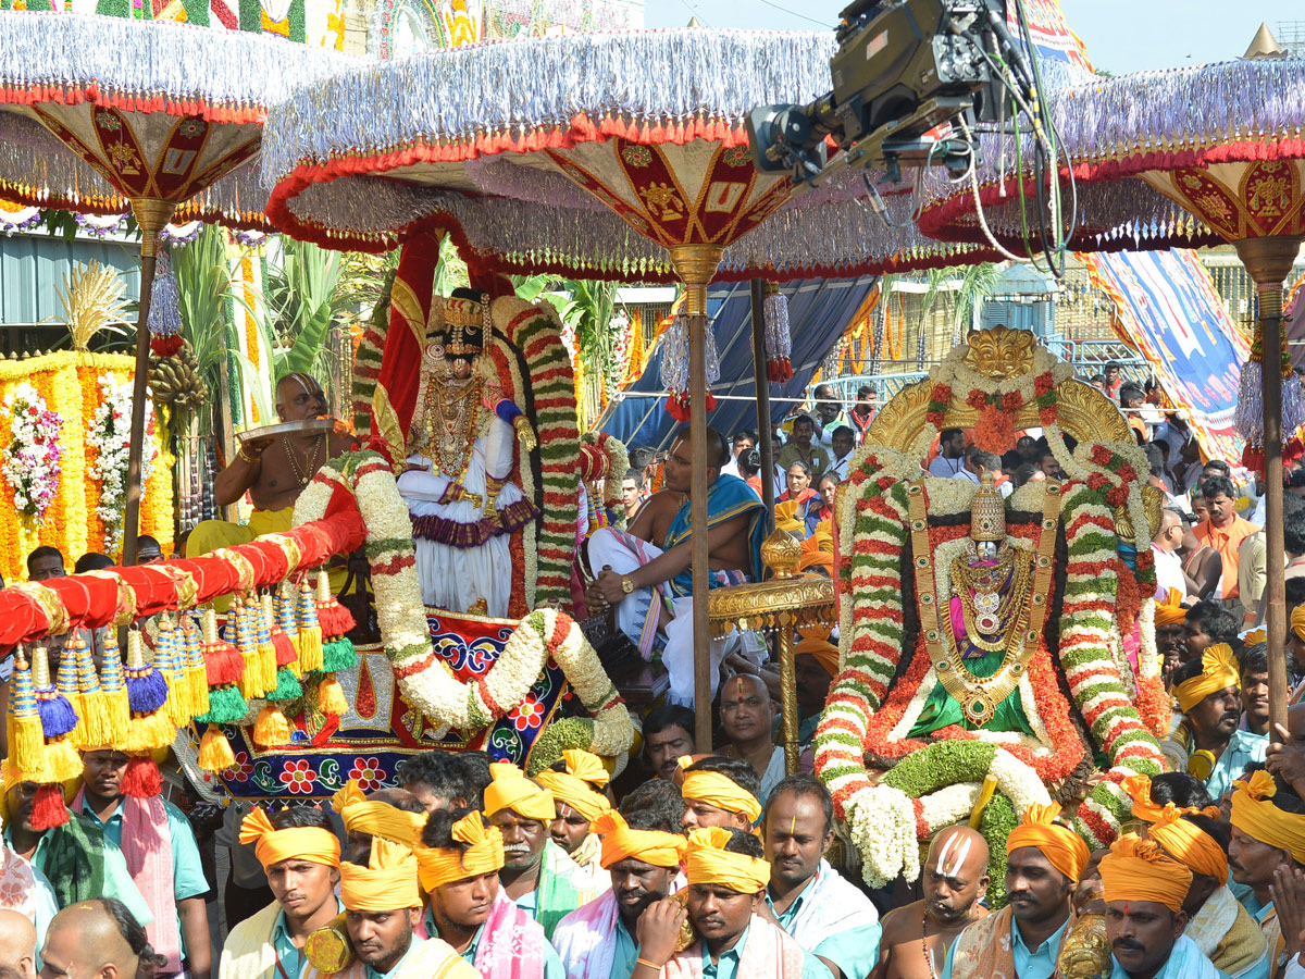
[[[606,756],[629,751],[634,727],[625,702],[569,616],[552,608],[531,612],[489,671],[462,683],[431,649],[411,518],[393,469],[375,452],[333,459],[300,495],[295,525],[321,520],[341,495],[354,497],[367,526],[367,557],[385,655],[410,704],[438,726],[488,727],[521,704],[551,658],[594,715],[591,751]]]

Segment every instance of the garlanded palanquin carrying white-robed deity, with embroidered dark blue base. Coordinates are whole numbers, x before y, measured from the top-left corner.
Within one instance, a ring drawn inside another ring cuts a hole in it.
[[[381,642],[359,644],[356,664],[335,674],[346,710],[324,709],[304,685],[279,705],[288,740],[260,739],[253,711],[222,727],[232,794],[393,783],[398,762],[432,749],[485,749],[534,770],[565,748],[615,762],[630,747],[624,704],[562,614],[577,535],[620,512],[624,446],[581,445],[552,307],[510,288],[440,295],[438,244],[418,235],[405,247],[389,322],[358,351],[355,423],[368,449],[331,459],[295,508],[296,526],[342,505],[360,512]]]

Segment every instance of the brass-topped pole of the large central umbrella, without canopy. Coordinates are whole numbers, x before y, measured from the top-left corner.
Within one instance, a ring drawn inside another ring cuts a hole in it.
[[[693,482],[689,523],[693,542],[693,714],[698,751],[711,749],[711,629],[707,606],[707,283],[720,264],[720,245],[688,244],[671,248],[671,260],[684,282],[684,312],[689,317],[689,448]]]

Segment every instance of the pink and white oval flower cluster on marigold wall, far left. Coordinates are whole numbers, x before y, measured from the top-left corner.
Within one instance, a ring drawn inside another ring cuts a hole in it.
[[[18,516],[35,529],[55,501],[63,473],[59,433],[64,419],[51,411],[29,382],[20,384],[4,399],[9,437],[0,474],[13,492]]]

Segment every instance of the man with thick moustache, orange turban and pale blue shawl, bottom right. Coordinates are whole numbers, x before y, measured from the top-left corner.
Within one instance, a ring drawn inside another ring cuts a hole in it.
[[[1191,871],[1129,833],[1101,859],[1111,979],[1223,979],[1182,933]]]

